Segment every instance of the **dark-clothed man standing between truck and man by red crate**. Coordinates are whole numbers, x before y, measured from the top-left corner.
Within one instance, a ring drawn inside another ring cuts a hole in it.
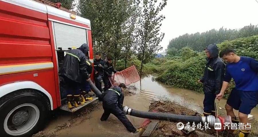
[[[103,80],[104,71],[107,69],[107,64],[103,59],[101,59],[101,54],[99,52],[95,53],[94,59],[94,81],[96,87],[101,90],[101,80]]]

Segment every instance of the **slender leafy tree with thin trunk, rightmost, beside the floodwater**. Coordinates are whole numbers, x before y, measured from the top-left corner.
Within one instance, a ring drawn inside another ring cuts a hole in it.
[[[160,11],[167,5],[167,0],[143,0],[139,3],[140,18],[136,25],[135,46],[138,59],[141,61],[140,77],[142,76],[143,64],[154,58],[154,53],[161,50],[160,42],[164,33],[160,32],[161,22],[165,16]]]

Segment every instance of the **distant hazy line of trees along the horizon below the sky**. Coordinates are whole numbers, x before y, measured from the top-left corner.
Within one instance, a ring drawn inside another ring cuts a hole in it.
[[[169,42],[168,49],[174,47],[181,49],[183,47],[191,47],[195,51],[202,51],[206,46],[212,43],[221,43],[225,40],[233,40],[237,38],[258,35],[258,26],[249,25],[240,30],[237,29],[212,29],[203,33],[184,34]]]

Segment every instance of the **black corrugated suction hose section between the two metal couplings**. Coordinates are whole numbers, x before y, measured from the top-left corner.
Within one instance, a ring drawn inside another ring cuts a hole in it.
[[[200,123],[203,122],[202,116],[185,116],[158,112],[145,112],[139,110],[130,110],[131,116],[136,116],[139,118],[157,119],[157,120],[169,120],[173,122],[190,122],[190,123]]]

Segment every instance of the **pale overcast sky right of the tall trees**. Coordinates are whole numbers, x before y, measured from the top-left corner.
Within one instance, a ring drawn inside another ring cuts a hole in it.
[[[166,17],[161,26],[165,33],[161,43],[163,51],[171,39],[185,33],[258,24],[255,0],[168,0],[161,13]]]

